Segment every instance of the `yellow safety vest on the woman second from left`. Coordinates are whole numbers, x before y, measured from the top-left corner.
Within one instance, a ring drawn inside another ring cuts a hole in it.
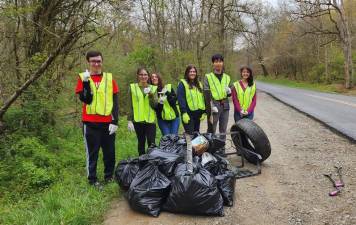
[[[156,92],[156,86],[149,85],[149,87],[151,88],[152,93]],[[142,93],[138,83],[130,84],[130,89],[134,121],[154,123],[156,121],[156,113],[150,106],[148,95]]]

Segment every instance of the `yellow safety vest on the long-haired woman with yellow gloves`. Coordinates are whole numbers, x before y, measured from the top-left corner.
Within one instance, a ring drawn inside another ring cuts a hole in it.
[[[185,98],[190,111],[196,111],[198,109],[205,110],[205,102],[203,93],[198,90],[197,87],[193,86],[190,88],[189,84],[185,79],[181,79],[181,82],[185,88]],[[199,83],[200,87],[202,86]]]

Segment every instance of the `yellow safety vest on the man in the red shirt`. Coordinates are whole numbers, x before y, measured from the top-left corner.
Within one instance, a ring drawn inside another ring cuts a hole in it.
[[[83,81],[84,73],[80,73],[79,76]],[[86,113],[101,116],[111,115],[113,107],[112,74],[103,73],[103,77],[98,87],[96,87],[94,81],[89,78],[89,85],[93,94],[93,101],[91,104],[86,105]]]

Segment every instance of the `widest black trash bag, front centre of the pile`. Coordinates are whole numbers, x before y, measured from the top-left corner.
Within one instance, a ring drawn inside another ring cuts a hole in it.
[[[171,178],[171,192],[163,210],[173,213],[224,216],[223,199],[214,176],[204,168],[188,172],[179,164]]]

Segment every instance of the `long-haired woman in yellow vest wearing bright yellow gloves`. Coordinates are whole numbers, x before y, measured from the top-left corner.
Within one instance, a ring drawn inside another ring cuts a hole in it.
[[[206,113],[202,84],[195,66],[186,68],[178,84],[177,97],[185,132],[199,132],[200,121],[206,119]]]

